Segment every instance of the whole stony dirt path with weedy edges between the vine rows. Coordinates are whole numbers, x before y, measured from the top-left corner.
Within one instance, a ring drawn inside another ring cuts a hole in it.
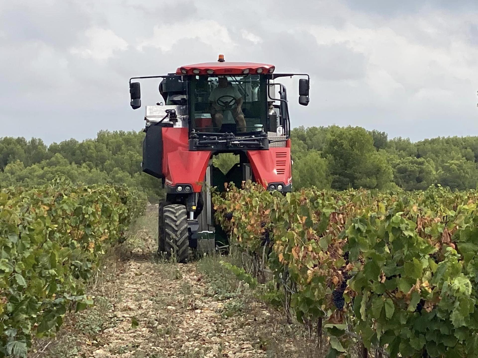
[[[292,327],[254,299],[220,258],[158,263],[154,236],[153,227],[137,231],[126,257],[109,263],[115,267],[107,267],[97,306],[73,317],[51,347],[32,357],[306,356]]]

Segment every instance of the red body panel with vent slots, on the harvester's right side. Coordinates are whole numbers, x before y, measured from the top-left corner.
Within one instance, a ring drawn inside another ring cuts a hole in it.
[[[252,173],[258,183],[267,188],[269,183],[292,182],[291,148],[269,148],[269,150],[249,150],[247,156]]]

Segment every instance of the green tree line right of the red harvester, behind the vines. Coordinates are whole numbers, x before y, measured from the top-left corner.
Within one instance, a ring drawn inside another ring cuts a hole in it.
[[[292,131],[295,188],[317,186],[423,190],[432,184],[475,189],[478,137],[411,142],[361,127],[298,127]]]

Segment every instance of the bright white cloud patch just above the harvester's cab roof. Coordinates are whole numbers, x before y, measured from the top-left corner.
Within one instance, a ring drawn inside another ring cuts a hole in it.
[[[142,51],[150,46],[170,51],[176,42],[183,39],[198,39],[219,50],[231,50],[234,47],[225,25],[214,20],[198,20],[156,25],[152,37],[142,40],[137,49]]]

